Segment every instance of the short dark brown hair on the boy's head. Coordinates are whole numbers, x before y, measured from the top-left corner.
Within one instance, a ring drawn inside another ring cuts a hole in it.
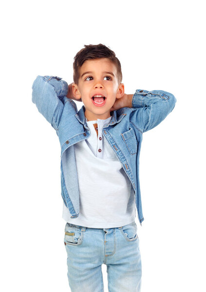
[[[121,70],[121,64],[116,57],[115,53],[109,49],[109,47],[106,47],[103,44],[98,45],[84,45],[85,48],[81,49],[74,57],[74,63],[73,63],[73,79],[74,83],[78,85],[79,80],[79,69],[83,65],[83,63],[86,60],[89,59],[99,59],[99,58],[108,58],[112,61],[112,63],[117,68],[117,79],[118,84],[122,82],[122,70]]]

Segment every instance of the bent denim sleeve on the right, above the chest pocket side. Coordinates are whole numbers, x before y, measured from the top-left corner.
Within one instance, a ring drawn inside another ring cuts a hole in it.
[[[136,90],[132,96],[131,122],[137,124],[142,132],[159,125],[174,109],[176,98],[161,90]]]

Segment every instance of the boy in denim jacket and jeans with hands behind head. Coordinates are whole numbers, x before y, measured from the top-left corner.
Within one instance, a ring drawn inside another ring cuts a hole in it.
[[[32,101],[61,146],[64,244],[72,292],[139,292],[135,223],[144,220],[139,183],[142,134],[163,121],[176,98],[166,91],[124,92],[121,65],[103,44],[75,55],[74,83],[37,76]],[[75,102],[82,101],[78,111]]]

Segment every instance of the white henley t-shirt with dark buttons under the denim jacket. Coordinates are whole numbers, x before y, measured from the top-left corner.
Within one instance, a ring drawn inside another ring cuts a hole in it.
[[[74,145],[79,216],[72,219],[63,202],[62,218],[69,223],[93,228],[114,228],[135,220],[135,198],[130,179],[102,135],[102,128],[110,123],[111,118],[87,121],[91,136]]]

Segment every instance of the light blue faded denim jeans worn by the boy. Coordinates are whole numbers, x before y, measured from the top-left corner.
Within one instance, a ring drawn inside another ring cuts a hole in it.
[[[66,223],[68,280],[72,292],[104,292],[101,265],[107,265],[109,292],[140,292],[142,265],[135,221],[116,228]]]

